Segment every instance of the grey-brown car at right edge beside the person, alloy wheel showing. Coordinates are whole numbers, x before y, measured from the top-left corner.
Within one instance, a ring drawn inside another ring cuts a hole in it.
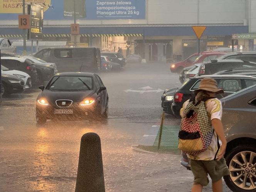
[[[221,99],[222,124],[227,139],[224,158],[230,175],[224,176],[234,192],[256,191],[256,86],[251,86]],[[189,169],[187,155],[182,153],[181,164]]]

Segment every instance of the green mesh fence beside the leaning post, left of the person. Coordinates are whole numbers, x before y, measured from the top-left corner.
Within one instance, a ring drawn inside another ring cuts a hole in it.
[[[178,150],[178,134],[179,126],[163,126],[160,150]],[[157,138],[155,138],[154,146],[158,145],[160,129],[158,130]]]

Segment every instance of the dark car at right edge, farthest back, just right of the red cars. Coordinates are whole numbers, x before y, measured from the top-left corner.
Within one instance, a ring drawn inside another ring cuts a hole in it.
[[[240,59],[243,61],[256,62],[256,52],[232,52],[218,59]]]

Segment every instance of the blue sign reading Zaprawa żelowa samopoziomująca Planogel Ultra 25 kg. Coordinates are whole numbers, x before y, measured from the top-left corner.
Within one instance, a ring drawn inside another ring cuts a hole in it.
[[[145,0],[86,0],[86,19],[146,19]]]

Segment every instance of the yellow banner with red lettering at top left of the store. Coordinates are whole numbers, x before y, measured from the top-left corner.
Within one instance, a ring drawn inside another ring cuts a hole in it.
[[[51,0],[25,0],[25,3],[31,2],[51,4]],[[46,11],[48,8],[48,5],[46,5],[44,11]],[[0,13],[22,13],[22,0],[0,0]]]

